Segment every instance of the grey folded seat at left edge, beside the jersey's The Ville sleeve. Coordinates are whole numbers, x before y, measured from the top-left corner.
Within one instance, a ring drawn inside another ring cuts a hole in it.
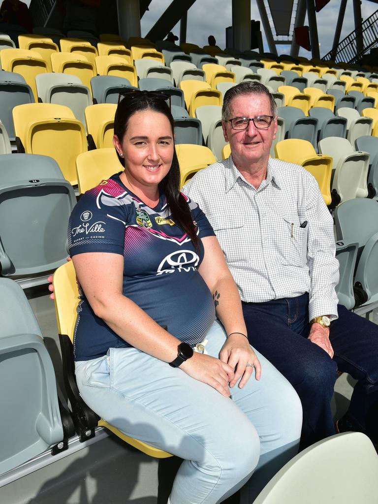
[[[25,287],[46,283],[41,276],[67,258],[68,219],[76,204],[71,184],[50,157],[3,154],[0,194],[1,275],[22,277]]]

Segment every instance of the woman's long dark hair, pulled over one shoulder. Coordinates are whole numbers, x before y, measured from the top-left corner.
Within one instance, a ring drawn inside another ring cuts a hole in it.
[[[128,129],[129,120],[136,112],[152,110],[164,114],[171,125],[173,136],[173,117],[166,101],[154,96],[154,93],[137,91],[125,97],[118,103],[114,117],[114,135],[122,142],[124,134]],[[118,152],[117,152],[118,155]],[[124,166],[124,159],[118,155],[120,163]],[[159,188],[167,199],[167,211],[170,211],[174,222],[191,238],[196,250],[199,247],[199,239],[193,223],[193,217],[187,201],[180,193],[180,167],[178,164],[176,150],[173,144],[173,159],[170,170],[159,183]]]

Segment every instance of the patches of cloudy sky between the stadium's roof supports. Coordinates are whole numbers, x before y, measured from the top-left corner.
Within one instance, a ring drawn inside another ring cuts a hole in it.
[[[171,0],[152,0],[150,10],[142,18],[142,36],[149,31],[170,3]],[[339,0],[331,0],[317,14],[321,57],[332,48],[339,6]],[[362,0],[362,19],[366,19],[377,9],[378,4]],[[251,19],[260,20],[259,10],[254,0],[251,0]],[[208,36],[212,34],[217,40],[217,45],[223,49],[226,41],[225,28],[231,24],[231,0],[197,0],[188,11],[186,40],[187,42],[204,46],[207,44]],[[305,24],[307,24],[307,20]],[[352,0],[348,0],[341,39],[346,37],[353,29],[353,3]],[[172,31],[175,35],[179,36],[179,25],[176,25]],[[266,42],[264,45],[266,50],[269,50]],[[279,45],[278,52],[290,52],[290,47]],[[304,49],[301,49],[299,54],[307,57],[311,56],[310,52]]]

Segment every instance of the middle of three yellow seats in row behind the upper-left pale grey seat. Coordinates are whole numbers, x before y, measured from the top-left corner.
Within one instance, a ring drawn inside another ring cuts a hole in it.
[[[91,79],[96,75],[95,66],[82,54],[77,52],[55,52],[51,54],[51,66],[53,72],[76,75],[84,86],[91,89]]]

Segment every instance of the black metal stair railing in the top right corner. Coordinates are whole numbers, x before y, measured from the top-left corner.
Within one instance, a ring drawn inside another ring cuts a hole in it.
[[[357,39],[362,38],[363,50],[358,52]],[[378,10],[349,33],[337,47],[333,47],[322,59],[332,59],[336,63],[345,61],[353,64],[372,47],[378,46]]]

